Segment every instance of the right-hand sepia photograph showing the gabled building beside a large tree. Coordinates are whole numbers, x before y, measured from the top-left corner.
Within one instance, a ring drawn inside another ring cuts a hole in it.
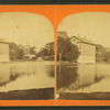
[[[57,29],[56,97],[110,100],[110,13],[69,14]]]

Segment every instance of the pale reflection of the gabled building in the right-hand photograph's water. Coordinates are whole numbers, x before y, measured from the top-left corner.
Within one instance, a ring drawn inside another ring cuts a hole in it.
[[[96,78],[96,66],[95,65],[78,65],[77,69],[77,80],[69,87],[73,89],[81,89],[84,87],[89,87],[91,84],[95,82]]]

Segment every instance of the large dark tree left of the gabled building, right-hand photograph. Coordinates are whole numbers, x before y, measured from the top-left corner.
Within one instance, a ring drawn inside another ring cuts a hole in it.
[[[66,32],[58,32],[57,36],[57,59],[59,61],[59,54],[62,53],[62,59],[74,62],[79,56],[77,45],[70,42]]]

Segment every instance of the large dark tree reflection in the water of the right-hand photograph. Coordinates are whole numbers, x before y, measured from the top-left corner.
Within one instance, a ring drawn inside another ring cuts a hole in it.
[[[77,67],[57,66],[57,89],[63,87],[68,88],[69,85],[74,84],[77,80]]]

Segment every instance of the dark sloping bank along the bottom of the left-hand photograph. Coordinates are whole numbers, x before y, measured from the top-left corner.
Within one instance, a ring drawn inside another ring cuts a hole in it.
[[[54,88],[14,90],[0,92],[0,100],[42,100],[54,99]]]

